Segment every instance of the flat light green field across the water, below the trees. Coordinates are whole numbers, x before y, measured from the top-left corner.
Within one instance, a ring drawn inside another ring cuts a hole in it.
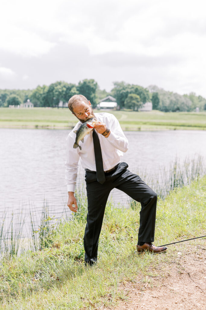
[[[205,130],[206,112],[94,111],[113,113],[123,130]],[[0,128],[72,129],[76,117],[67,108],[0,108]]]

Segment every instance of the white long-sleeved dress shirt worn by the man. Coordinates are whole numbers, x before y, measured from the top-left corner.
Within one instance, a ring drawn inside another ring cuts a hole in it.
[[[121,157],[123,156],[122,152],[128,150],[128,139],[125,137],[120,123],[113,114],[95,113],[95,117],[99,122],[105,123],[107,128],[111,130],[107,138],[96,131],[102,150],[103,168],[104,171],[107,171],[120,163]],[[76,139],[74,130],[77,130],[79,124],[81,124],[81,122],[77,123],[66,139],[65,179],[68,192],[74,192],[75,190],[79,159],[83,168],[96,171],[92,131],[84,137],[84,143],[79,141],[82,150],[80,150],[79,147],[73,148]]]

